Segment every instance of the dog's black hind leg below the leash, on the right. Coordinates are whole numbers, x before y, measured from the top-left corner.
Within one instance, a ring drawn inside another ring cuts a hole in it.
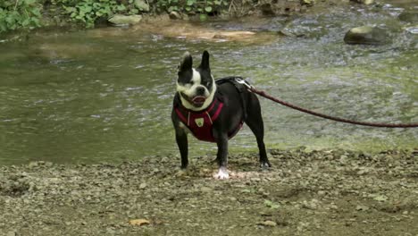
[[[258,150],[260,154],[260,166],[271,167],[264,145],[264,123],[261,114],[261,107],[258,98],[255,94],[249,94],[247,103],[247,119],[244,121],[248,127],[253,131],[255,139],[257,140]]]

